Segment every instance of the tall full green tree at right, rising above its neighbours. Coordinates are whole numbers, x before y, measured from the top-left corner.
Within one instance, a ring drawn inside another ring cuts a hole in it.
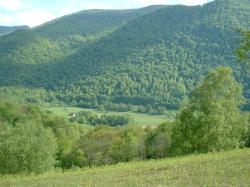
[[[247,128],[240,111],[242,101],[242,88],[231,69],[221,67],[209,72],[176,117],[172,133],[174,154],[242,146]]]

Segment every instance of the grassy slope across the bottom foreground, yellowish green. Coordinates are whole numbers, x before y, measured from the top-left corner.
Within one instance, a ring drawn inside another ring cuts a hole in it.
[[[250,149],[133,162],[33,177],[2,177],[0,186],[249,186]]]

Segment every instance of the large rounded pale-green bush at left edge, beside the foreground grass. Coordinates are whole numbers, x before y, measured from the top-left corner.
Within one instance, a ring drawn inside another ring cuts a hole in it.
[[[0,126],[0,173],[42,173],[55,165],[56,141],[42,125]]]

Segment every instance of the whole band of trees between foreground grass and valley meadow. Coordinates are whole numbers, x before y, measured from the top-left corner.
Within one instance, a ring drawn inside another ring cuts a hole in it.
[[[70,122],[35,105],[2,102],[0,174],[37,174],[247,147],[250,116],[241,111],[243,102],[242,87],[225,67],[208,73],[175,121],[154,128],[124,125],[119,123],[125,119],[121,116],[90,113],[79,113]],[[80,120],[88,125],[75,122]]]

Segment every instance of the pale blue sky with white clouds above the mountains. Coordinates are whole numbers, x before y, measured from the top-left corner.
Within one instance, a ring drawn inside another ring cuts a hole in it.
[[[0,0],[0,25],[34,27],[88,9],[130,9],[149,5],[202,5],[211,0]]]

